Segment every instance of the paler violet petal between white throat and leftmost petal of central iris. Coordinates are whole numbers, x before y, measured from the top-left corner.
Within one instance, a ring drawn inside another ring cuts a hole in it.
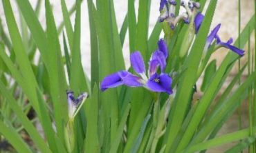
[[[140,87],[143,85],[142,83],[140,83],[140,77],[131,74],[130,72],[120,71],[118,72],[118,74],[122,79],[122,83],[129,87]]]

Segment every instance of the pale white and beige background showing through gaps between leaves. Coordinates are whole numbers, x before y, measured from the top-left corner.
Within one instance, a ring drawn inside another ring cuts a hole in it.
[[[15,1],[12,1],[12,6],[15,11],[15,16],[19,19],[19,12],[17,11],[17,7],[15,6]],[[127,12],[127,1],[125,0],[113,0],[116,8],[116,17],[118,21],[118,28],[120,29],[122,25],[122,21],[125,18],[125,14]],[[30,0],[30,2],[35,7],[35,0]],[[86,2],[86,1],[84,1]],[[75,0],[66,1],[68,8],[73,6]],[[51,4],[53,6],[53,12],[55,15],[55,20],[57,25],[62,21],[62,10],[60,7],[60,0],[51,0]],[[221,23],[221,29],[219,30],[219,35],[223,40],[228,40],[230,37],[233,39],[237,38],[238,35],[238,1],[237,0],[219,0],[217,4],[217,10],[214,14],[214,19],[212,21],[212,28],[216,26],[218,23]],[[158,18],[158,6],[159,0],[152,0],[151,7],[151,16],[149,19],[149,33],[152,31],[154,27],[154,23],[156,23],[156,19]],[[249,21],[250,17],[252,17],[254,8],[253,8],[253,0],[243,0],[241,1],[241,28],[244,28],[245,24]],[[136,1],[136,10],[138,10],[138,0]],[[4,21],[2,2],[0,1],[0,17],[3,19],[3,24],[6,24]],[[72,20],[74,21],[74,15],[72,16]],[[42,10],[39,21],[45,27],[45,19],[44,19],[44,10]],[[89,19],[88,19],[88,9],[86,3],[82,3],[82,38],[81,38],[81,50],[82,50],[82,64],[84,70],[88,76],[90,75],[90,39],[89,39]],[[60,38],[62,39],[62,38]],[[62,41],[61,41],[62,42]],[[253,42],[253,41],[252,41]],[[253,43],[251,43],[253,44]],[[253,45],[252,45],[253,46]],[[217,59],[217,63],[220,63],[223,59],[224,55],[228,52],[228,50],[221,49],[213,55],[213,59]],[[248,51],[246,51],[248,52]],[[127,68],[129,67],[129,41],[126,37],[125,44],[123,47],[123,54],[126,61]],[[242,61],[246,61],[246,56],[243,57]],[[235,68],[232,72],[235,73],[237,68]],[[246,105],[243,106],[243,121],[244,126],[246,126]],[[228,132],[232,132],[237,130],[237,115],[235,114],[232,118],[223,125],[223,128],[219,134],[224,134]],[[223,152],[225,150],[224,147],[217,148],[217,150],[212,150],[209,152]]]

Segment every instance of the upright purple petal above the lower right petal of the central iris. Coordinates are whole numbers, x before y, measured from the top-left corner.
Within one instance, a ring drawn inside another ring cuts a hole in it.
[[[166,59],[163,52],[156,50],[153,52],[152,57],[149,61],[149,76],[152,76],[152,74],[155,74],[158,66],[161,68],[161,72],[164,72],[165,66],[166,66]]]

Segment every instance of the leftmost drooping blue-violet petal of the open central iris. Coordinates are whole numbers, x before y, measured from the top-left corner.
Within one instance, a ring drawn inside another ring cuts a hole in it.
[[[115,88],[119,85],[123,85],[122,78],[120,77],[119,72],[110,74],[109,76],[106,76],[103,80],[102,83],[100,84],[100,89],[102,92],[104,90],[107,90],[108,88]]]

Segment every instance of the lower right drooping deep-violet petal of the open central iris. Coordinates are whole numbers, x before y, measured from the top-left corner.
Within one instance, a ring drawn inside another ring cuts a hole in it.
[[[147,88],[154,92],[172,94],[172,78],[168,74],[154,74],[147,81]]]

